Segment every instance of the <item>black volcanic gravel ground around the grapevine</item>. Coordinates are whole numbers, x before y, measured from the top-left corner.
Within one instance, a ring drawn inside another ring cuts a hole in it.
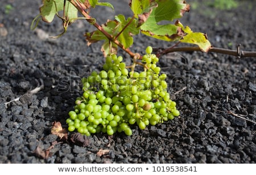
[[[52,123],[67,127],[68,111],[82,93],[80,78],[100,71],[104,57],[102,43],[86,45],[83,35],[94,28],[84,20],[59,39],[49,38],[63,30],[57,18],[31,31],[41,2],[0,2],[0,163],[256,163],[256,58],[212,52],[160,57],[179,118],[143,131],[134,126],[132,136],[95,134],[86,147],[60,141],[51,134]],[[92,11],[99,23],[131,14],[128,0],[111,2],[115,11]],[[216,9],[207,1],[187,2],[191,11],[181,23],[207,33],[214,47],[236,50],[241,43],[243,51],[256,51],[255,1],[238,1],[232,10]],[[173,44],[143,35],[134,40],[131,50],[139,53],[147,45]],[[119,55],[129,63],[126,53]],[[33,89],[38,91],[27,93]]]

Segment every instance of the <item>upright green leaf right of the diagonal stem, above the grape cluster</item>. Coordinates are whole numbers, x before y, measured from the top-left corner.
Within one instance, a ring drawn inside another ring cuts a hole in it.
[[[133,44],[133,35],[139,34],[139,28],[135,27],[136,20],[131,18],[125,20],[123,15],[115,16],[115,20],[119,22],[117,31],[121,32],[117,40],[122,43],[123,47],[129,48]]]

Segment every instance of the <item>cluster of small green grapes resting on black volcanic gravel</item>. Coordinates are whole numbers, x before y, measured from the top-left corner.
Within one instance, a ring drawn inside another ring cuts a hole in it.
[[[86,136],[122,131],[132,135],[133,124],[144,130],[148,124],[179,116],[176,102],[167,92],[167,75],[160,74],[156,65],[158,57],[152,54],[152,47],[147,47],[146,53],[141,62],[134,58],[131,66],[126,66],[121,56],[109,55],[100,73],[93,71],[82,78],[83,94],[68,113],[68,131],[77,130]],[[136,65],[144,70],[135,71]]]

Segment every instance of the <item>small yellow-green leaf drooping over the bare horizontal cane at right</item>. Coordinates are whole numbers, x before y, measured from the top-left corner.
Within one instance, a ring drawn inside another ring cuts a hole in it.
[[[187,34],[183,36],[180,41],[182,43],[196,44],[204,52],[208,52],[211,47],[210,42],[207,39],[207,35],[201,32],[192,32],[190,34]]]

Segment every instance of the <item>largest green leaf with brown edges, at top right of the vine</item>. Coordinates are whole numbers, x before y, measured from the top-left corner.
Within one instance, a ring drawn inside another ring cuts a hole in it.
[[[142,34],[152,38],[176,41],[184,35],[181,27],[176,24],[158,24],[163,20],[172,21],[183,16],[185,11],[189,11],[189,5],[181,0],[158,0],[158,6],[152,9],[150,16],[140,26]]]

